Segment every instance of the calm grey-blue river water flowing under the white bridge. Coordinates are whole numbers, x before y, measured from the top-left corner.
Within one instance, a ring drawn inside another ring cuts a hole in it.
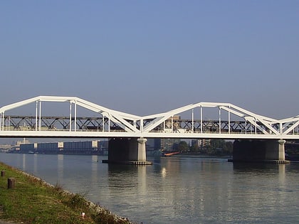
[[[299,164],[233,164],[148,158],[152,166],[102,164],[105,156],[4,154],[0,161],[135,223],[297,223]],[[17,186],[16,186],[17,187]]]

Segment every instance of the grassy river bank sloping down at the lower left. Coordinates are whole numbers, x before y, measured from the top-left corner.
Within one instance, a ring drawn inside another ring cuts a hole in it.
[[[39,178],[0,163],[0,219],[22,223],[130,223],[125,218],[63,191]],[[8,178],[15,179],[8,188]],[[84,217],[83,214],[85,213]]]

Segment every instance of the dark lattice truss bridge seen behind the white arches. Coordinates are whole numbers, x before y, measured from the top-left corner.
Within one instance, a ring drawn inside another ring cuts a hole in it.
[[[11,129],[18,130],[24,129],[24,127],[28,127],[28,130],[35,130],[35,117],[33,116],[13,116],[10,115],[5,117],[4,122],[9,124],[7,127],[11,127]],[[71,118],[72,124],[75,122],[75,117]],[[249,123],[247,127],[245,127],[245,122],[239,121],[231,121],[230,129],[231,132],[245,133],[252,131],[253,127]],[[78,130],[98,130],[103,131],[103,126],[107,127],[108,119],[103,119],[99,117],[77,117],[76,119],[76,127]],[[194,132],[199,132],[201,129],[200,120],[194,120]],[[70,127],[70,118],[69,117],[41,117],[41,126],[44,130],[68,130]],[[170,122],[165,124],[166,128],[171,128]],[[219,121],[216,120],[208,120],[202,122],[204,132],[219,132]],[[140,124],[138,123],[137,129],[140,128]],[[122,130],[117,124],[110,122],[110,129],[112,130]],[[154,129],[154,132],[162,130],[163,126],[160,124],[158,127]],[[187,131],[192,132],[192,120],[189,119],[178,119],[174,122],[174,129],[186,129]],[[229,130],[229,122],[221,121],[221,132],[228,132]]]

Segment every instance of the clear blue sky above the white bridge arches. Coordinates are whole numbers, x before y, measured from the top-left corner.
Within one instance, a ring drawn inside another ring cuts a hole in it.
[[[137,115],[299,114],[299,1],[0,1],[0,106],[76,96]]]

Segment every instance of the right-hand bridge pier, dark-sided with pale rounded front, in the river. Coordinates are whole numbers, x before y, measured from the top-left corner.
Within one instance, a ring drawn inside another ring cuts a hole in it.
[[[233,159],[229,161],[288,164],[285,140],[236,140]]]

